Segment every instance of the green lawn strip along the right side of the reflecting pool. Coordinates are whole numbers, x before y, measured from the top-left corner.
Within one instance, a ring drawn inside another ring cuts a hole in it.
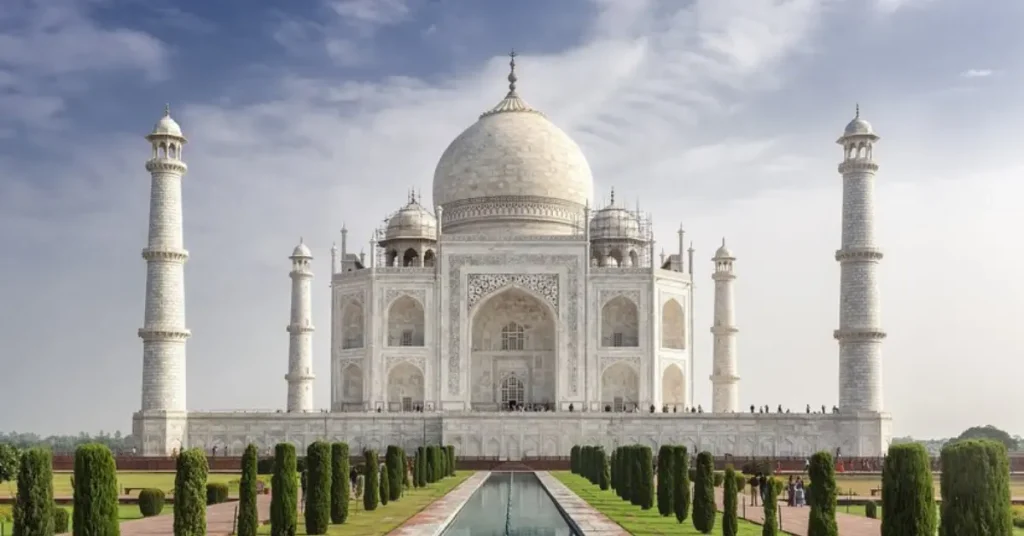
[[[675,517],[663,518],[657,508],[642,510],[618,498],[611,490],[601,491],[587,479],[569,471],[552,471],[552,476],[561,481],[568,489],[590,503],[595,509],[607,516],[635,536],[672,534],[675,536],[699,536],[693,528],[693,522],[687,519],[682,524]],[[715,520],[715,530],[712,534],[721,534],[721,514]],[[762,527],[739,520],[738,536],[761,536]]]

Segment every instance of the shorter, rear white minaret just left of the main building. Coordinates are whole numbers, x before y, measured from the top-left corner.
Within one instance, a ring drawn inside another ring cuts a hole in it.
[[[292,320],[288,324],[288,412],[313,409],[313,256],[299,239],[292,256]]]

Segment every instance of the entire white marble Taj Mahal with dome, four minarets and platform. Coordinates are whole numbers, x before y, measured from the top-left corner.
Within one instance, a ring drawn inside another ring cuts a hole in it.
[[[304,450],[325,439],[353,452],[451,444],[460,456],[510,460],[567,456],[577,444],[637,443],[716,456],[884,455],[892,421],[883,408],[883,255],[873,229],[879,136],[859,110],[838,140],[839,406],[761,413],[739,403],[739,264],[725,241],[707,286],[715,295],[713,397],[697,401],[693,362],[705,356],[693,353],[693,334],[709,327],[694,326],[694,251],[684,249],[682,228],[675,251],[655,254],[650,215],[613,193],[610,203],[593,205],[583,151],[520,97],[514,53],[510,67],[505,97],[440,156],[432,208],[411,193],[375,233],[369,254],[354,253],[342,229],[340,248],[330,250],[330,319],[312,318],[313,252],[301,241],[295,247],[287,370],[282,359],[288,396],[272,412],[186,405],[186,138],[165,111],[146,136],[142,400],[133,416],[141,454],[200,447],[240,455],[250,443],[282,442]],[[833,253],[821,256],[826,262]],[[326,324],[331,339],[324,409],[313,405],[315,324]]]

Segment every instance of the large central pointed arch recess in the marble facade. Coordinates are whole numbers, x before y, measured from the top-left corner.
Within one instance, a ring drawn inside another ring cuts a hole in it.
[[[508,385],[512,376],[522,382],[524,399],[515,402],[554,406],[558,347],[554,308],[527,290],[508,287],[476,305],[470,318],[471,407],[498,409],[502,385]]]

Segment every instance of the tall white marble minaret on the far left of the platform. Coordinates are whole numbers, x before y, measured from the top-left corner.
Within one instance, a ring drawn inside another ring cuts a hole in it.
[[[185,329],[184,264],[188,252],[182,244],[181,176],[188,166],[181,161],[185,136],[171,119],[170,106],[145,138],[152,147],[145,163],[152,179],[150,238],[142,250],[145,317],[138,330],[142,339],[141,415],[180,412],[183,416],[185,340],[191,333]]]

